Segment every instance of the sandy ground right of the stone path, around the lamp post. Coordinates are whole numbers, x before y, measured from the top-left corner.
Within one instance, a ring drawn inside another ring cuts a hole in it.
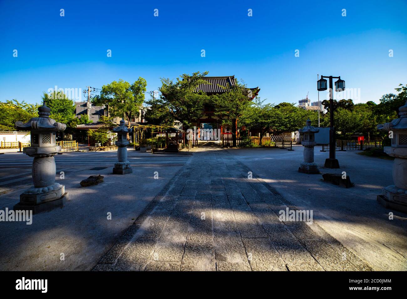
[[[315,221],[374,270],[407,270],[407,215],[385,209],[376,201],[381,189],[392,185],[393,161],[336,151],[339,169],[324,168],[328,152],[315,147],[315,162],[322,173],[346,171],[352,188],[322,180],[322,175],[298,172],[302,146],[295,151],[278,148],[230,149],[228,152],[250,171],[276,188],[289,202],[313,210]],[[389,220],[389,212],[394,213]]]

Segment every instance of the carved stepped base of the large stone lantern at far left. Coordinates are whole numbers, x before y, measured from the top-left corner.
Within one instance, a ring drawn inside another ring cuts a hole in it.
[[[30,188],[20,195],[20,202],[14,205],[13,210],[31,210],[33,214],[63,207],[68,201],[68,192],[65,186],[55,183],[44,188]]]

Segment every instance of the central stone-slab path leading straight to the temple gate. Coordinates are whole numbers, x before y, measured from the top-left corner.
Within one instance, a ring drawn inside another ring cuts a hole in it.
[[[95,271],[371,271],[227,151],[198,148]]]

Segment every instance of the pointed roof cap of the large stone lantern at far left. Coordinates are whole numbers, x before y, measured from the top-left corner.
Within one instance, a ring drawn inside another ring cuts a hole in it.
[[[15,127],[19,130],[44,130],[44,131],[63,131],[66,129],[66,124],[56,122],[50,118],[51,109],[45,105],[38,107],[38,117],[33,117],[28,122],[15,122]]]

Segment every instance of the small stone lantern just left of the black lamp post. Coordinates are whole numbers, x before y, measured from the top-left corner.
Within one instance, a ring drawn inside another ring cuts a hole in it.
[[[307,120],[305,127],[298,131],[304,136],[301,142],[302,146],[304,146],[304,162],[301,163],[298,172],[310,175],[319,174],[318,166],[314,163],[314,146],[317,144],[315,142],[315,133],[318,133],[319,129],[315,129],[311,126],[311,120]]]

